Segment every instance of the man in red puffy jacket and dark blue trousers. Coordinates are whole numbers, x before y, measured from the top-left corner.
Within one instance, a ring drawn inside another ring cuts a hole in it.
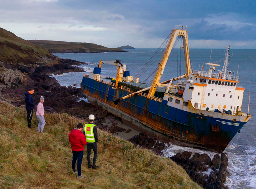
[[[73,153],[73,160],[72,160],[72,170],[73,173],[77,174],[77,178],[84,178],[81,174],[81,164],[82,159],[84,156],[84,145],[86,145],[86,139],[84,134],[82,133],[82,129],[84,128],[82,123],[77,124],[77,127],[74,128],[69,133],[69,142],[71,144],[71,149]],[[75,163],[77,160],[77,172],[75,171]]]

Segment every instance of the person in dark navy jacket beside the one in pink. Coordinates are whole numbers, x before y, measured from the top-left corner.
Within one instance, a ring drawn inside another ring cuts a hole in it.
[[[28,113],[28,127],[29,128],[34,128],[31,126],[31,120],[32,120],[32,115],[33,115],[33,110],[34,110],[34,100],[32,95],[34,94],[34,89],[28,89],[28,92],[25,92],[25,102],[26,102],[26,110]]]

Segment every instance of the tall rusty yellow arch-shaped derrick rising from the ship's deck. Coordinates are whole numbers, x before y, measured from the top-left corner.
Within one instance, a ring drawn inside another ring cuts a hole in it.
[[[158,63],[159,68],[158,71],[156,73],[156,76],[153,79],[153,84],[149,90],[148,93],[148,98],[151,98],[152,96],[154,96],[156,89],[158,87],[158,85],[160,84],[160,79],[162,74],[164,73],[164,67],[167,63],[167,60],[169,58],[169,55],[172,51],[174,42],[176,40],[177,37],[182,37],[183,39],[183,49],[184,49],[184,59],[185,59],[185,71],[186,74],[190,74],[190,58],[189,58],[189,44],[188,44],[188,37],[187,37],[187,26],[184,27],[183,26],[178,26],[176,25],[175,28],[172,30],[172,32],[170,33],[170,37],[169,37],[169,42],[168,45],[166,47],[166,50],[164,52],[164,55],[162,57],[161,62]]]

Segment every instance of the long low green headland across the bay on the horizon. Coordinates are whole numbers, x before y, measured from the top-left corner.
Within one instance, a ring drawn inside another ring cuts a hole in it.
[[[28,40],[28,42],[47,48],[51,53],[99,53],[99,52],[126,52],[121,48],[107,48],[92,43],[75,43],[64,41]]]

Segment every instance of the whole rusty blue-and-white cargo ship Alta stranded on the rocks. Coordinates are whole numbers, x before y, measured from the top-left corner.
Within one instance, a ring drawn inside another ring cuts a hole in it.
[[[185,74],[160,82],[179,38],[183,41]],[[175,26],[166,41],[150,84],[130,76],[122,61],[112,60],[100,61],[98,67],[84,74],[81,89],[90,103],[138,129],[222,153],[252,117],[249,107],[248,113],[241,111],[245,88],[238,86],[238,74],[228,70],[230,45],[220,60],[224,62],[222,70],[216,70],[220,61],[209,61],[204,71],[203,67],[192,69],[187,26]],[[104,63],[117,67],[116,78],[100,74]]]

